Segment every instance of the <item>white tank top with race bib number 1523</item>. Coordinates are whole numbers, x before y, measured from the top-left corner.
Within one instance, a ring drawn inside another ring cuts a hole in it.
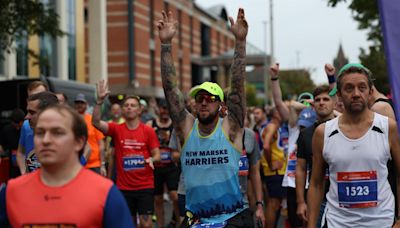
[[[326,123],[322,152],[329,165],[328,227],[391,227],[394,197],[387,180],[388,118],[375,113],[372,126],[358,139],[340,131],[339,118]]]

